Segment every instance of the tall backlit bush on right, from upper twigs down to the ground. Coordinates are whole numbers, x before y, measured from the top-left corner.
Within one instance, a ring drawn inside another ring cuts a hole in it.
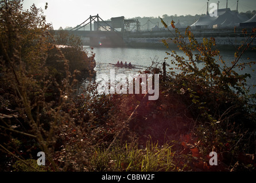
[[[166,54],[173,58],[170,63],[175,66],[170,68],[165,85],[169,87],[166,90],[183,96],[189,112],[196,119],[192,133],[197,140],[190,141],[190,144],[197,147],[192,156],[199,158],[203,154],[205,157],[215,151],[221,154],[224,164],[234,166],[233,161],[241,161],[239,154],[242,152],[255,153],[255,146],[246,141],[256,129],[255,98],[248,94],[246,87],[251,75],[238,73],[255,64],[255,61],[241,62],[242,55],[251,49],[250,45],[256,38],[255,29],[250,35],[242,30],[245,41],[235,51],[234,61],[228,63],[216,49],[214,38],[203,38],[199,43],[190,27],[182,34],[173,21],[171,25],[175,31],[170,31],[174,37],[170,40],[186,57],[180,57],[170,49],[166,40],[162,40],[169,49]]]

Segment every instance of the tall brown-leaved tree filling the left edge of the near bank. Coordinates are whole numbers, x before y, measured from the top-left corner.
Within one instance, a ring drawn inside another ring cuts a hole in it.
[[[18,116],[18,120],[14,121],[0,119],[0,153],[7,154],[8,160],[5,161],[15,162],[17,159],[26,166],[33,166],[25,160],[37,158],[34,157],[37,152],[44,152],[51,170],[59,170],[60,166],[54,158],[60,133],[79,138],[79,142],[83,138],[81,129],[74,130],[73,113],[76,113],[76,109],[73,108],[72,86],[76,79],[69,81],[72,76],[68,60],[55,45],[55,38],[49,33],[51,25],[45,23],[40,9],[32,5],[30,10],[22,10],[21,1],[10,0],[1,1],[0,11],[0,113],[6,112],[6,108],[9,112],[15,109]],[[71,39],[74,42],[69,42]],[[68,43],[73,44],[76,49],[81,47],[75,45],[79,43],[76,38],[71,39],[67,38]],[[54,71],[58,73],[59,68],[51,69],[45,64],[49,51],[53,49],[55,61],[61,61],[60,65],[65,72],[65,77],[59,83],[54,75]],[[2,105],[2,101],[6,104]],[[13,140],[15,144],[11,143]],[[75,141],[72,138],[68,145],[73,145]],[[76,152],[86,152],[84,142],[79,144],[82,146]],[[75,145],[71,149],[74,148]],[[31,154],[22,158],[20,152]],[[1,154],[0,157],[5,156]],[[83,164],[84,160],[80,163]],[[6,164],[1,164],[0,169],[5,166]],[[36,167],[33,169],[38,170]]]

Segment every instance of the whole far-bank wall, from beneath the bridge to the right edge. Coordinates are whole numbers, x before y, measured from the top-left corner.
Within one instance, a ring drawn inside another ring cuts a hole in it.
[[[185,28],[180,28],[180,33],[185,37]],[[215,29],[190,29],[199,43],[203,38],[214,37],[217,46],[239,46],[242,42],[250,41],[253,27],[246,27],[247,34],[243,34],[243,27],[220,27]],[[79,35],[82,38],[83,45],[94,47],[164,47],[162,39],[169,43],[169,47],[175,46],[168,38],[174,38],[174,30],[169,31],[139,31],[115,33],[111,31],[76,31],[72,34]],[[79,34],[78,34],[79,33]],[[252,45],[256,45],[254,40]]]

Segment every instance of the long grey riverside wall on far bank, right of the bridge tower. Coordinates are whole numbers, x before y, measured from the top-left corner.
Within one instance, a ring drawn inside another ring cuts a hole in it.
[[[191,29],[193,35],[199,43],[203,42],[203,38],[215,38],[217,46],[240,46],[247,40],[247,43],[251,41],[252,29],[247,28],[247,34],[243,34],[243,27],[222,28],[222,29]],[[180,29],[181,35],[185,36],[185,29]],[[175,31],[151,31],[130,33],[124,36],[124,40],[127,45],[130,46],[163,46],[162,39],[165,39],[169,43],[169,47],[175,46],[174,43],[168,38],[174,38]],[[256,46],[256,40],[252,45]]]

